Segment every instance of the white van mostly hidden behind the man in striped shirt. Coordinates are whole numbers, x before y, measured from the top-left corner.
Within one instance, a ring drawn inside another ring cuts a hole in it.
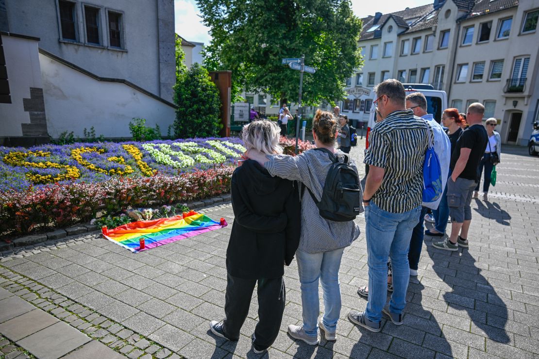
[[[406,95],[414,92],[420,92],[427,98],[427,113],[432,114],[436,122],[440,123],[441,115],[447,108],[447,94],[445,91],[434,90],[432,85],[425,85],[423,83],[403,83]],[[374,92],[373,92],[374,93]],[[376,96],[376,94],[374,94]],[[372,98],[372,107],[369,114],[369,123],[367,124],[367,136],[365,136],[365,154],[369,148],[369,135],[371,129],[374,128],[377,122],[376,111],[374,101],[376,98]],[[538,146],[539,147],[539,144]],[[365,166],[365,173],[369,173],[369,166]]]

